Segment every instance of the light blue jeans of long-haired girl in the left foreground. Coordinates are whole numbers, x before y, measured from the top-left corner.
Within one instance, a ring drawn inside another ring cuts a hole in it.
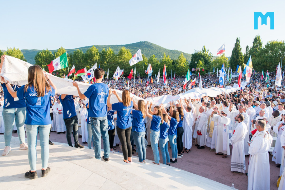
[[[36,170],[36,141],[38,133],[40,135],[40,148],[42,157],[42,168],[48,167],[48,137],[50,135],[50,125],[26,125],[26,133],[28,140],[28,158],[30,163],[30,168],[32,171]]]

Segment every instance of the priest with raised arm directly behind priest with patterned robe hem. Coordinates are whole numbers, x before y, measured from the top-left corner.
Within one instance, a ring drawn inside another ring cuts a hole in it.
[[[247,135],[245,136],[245,139],[244,139],[244,151],[245,151],[245,155],[249,155],[249,146],[247,145],[247,141],[249,141],[249,132],[250,132],[249,116],[247,113],[244,112],[244,110],[245,110],[245,107],[243,105],[239,105],[238,110],[236,110],[235,108],[233,108],[232,102],[229,106],[231,119],[234,119],[235,116],[239,113],[241,113],[244,116],[243,123],[245,123],[245,125],[247,126]],[[234,133],[235,128],[237,127],[237,124],[238,124],[237,121],[235,121],[232,134]]]

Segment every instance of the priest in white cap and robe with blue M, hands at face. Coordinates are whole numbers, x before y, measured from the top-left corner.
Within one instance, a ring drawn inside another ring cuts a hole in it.
[[[217,122],[217,143],[216,143],[216,155],[223,154],[223,158],[227,158],[230,155],[229,146],[229,124],[231,119],[227,117],[229,110],[222,110],[221,113],[214,114],[212,112],[212,121]]]

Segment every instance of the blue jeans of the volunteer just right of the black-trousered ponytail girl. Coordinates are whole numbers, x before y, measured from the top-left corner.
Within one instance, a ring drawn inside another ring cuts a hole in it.
[[[137,153],[139,155],[140,162],[143,162],[143,160],[145,160],[145,157],[146,157],[146,148],[144,145],[144,135],[145,135],[145,131],[143,132],[133,131],[133,139],[137,146]]]

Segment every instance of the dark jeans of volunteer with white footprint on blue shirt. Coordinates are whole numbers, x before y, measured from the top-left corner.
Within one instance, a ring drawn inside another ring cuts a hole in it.
[[[77,115],[63,119],[66,126],[66,139],[69,146],[72,146],[71,134],[73,131],[74,144],[79,144],[78,141],[78,118]]]

